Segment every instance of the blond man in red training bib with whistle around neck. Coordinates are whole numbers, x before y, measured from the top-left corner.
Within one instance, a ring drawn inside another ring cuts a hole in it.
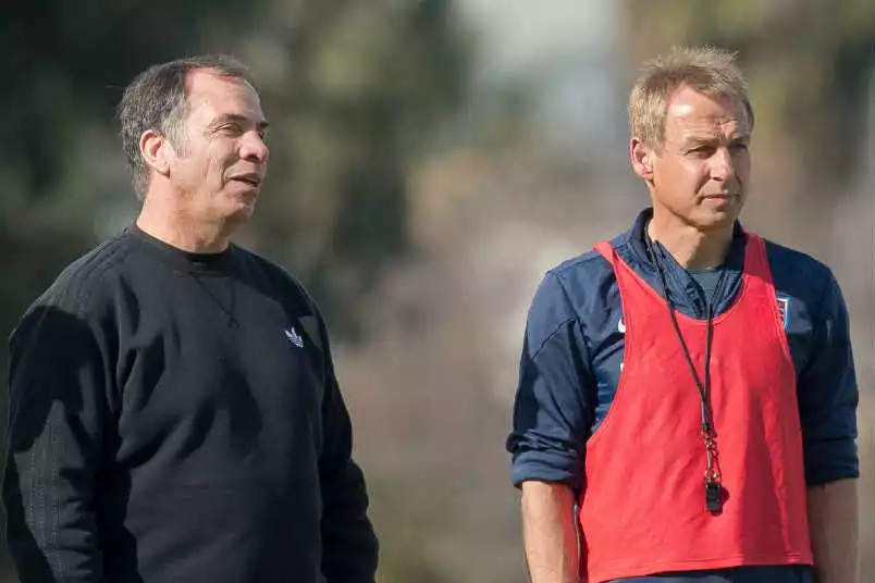
[[[652,207],[528,317],[507,448],[532,583],[856,583],[848,313],[826,265],[738,222],[732,55],[648,63],[629,115]]]

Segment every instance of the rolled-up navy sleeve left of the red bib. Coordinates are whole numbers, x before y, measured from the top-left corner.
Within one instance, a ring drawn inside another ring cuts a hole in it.
[[[547,274],[526,324],[513,430],[507,438],[512,481],[567,484],[580,492],[593,407],[586,340],[555,274]]]

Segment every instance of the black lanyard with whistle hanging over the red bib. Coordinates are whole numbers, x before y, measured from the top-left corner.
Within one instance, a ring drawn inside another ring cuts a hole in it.
[[[705,470],[705,508],[712,514],[719,514],[723,511],[723,474],[720,473],[720,463],[717,456],[717,431],[714,429],[714,419],[711,411],[711,344],[714,337],[714,300],[717,297],[717,292],[723,284],[726,270],[720,272],[720,277],[717,280],[717,286],[707,301],[707,315],[706,315],[706,339],[705,339],[705,367],[704,380],[699,379],[695,372],[690,350],[687,348],[687,343],[683,340],[683,335],[680,333],[678,326],[677,315],[675,315],[675,306],[668,297],[668,286],[665,283],[665,273],[660,262],[656,260],[656,253],[653,252],[653,241],[650,236],[646,236],[648,252],[653,265],[656,268],[656,273],[660,275],[660,284],[663,288],[663,297],[665,305],[668,307],[668,314],[671,317],[671,325],[675,327],[680,347],[683,349],[683,356],[687,358],[687,364],[690,367],[695,387],[699,389],[699,398],[702,408],[702,429],[700,436],[705,445],[705,452],[707,455],[707,467]],[[707,299],[707,298],[706,298]]]

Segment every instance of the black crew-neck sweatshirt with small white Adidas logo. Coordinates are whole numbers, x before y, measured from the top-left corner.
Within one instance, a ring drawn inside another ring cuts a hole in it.
[[[324,323],[281,268],[135,226],[10,338],[2,497],[22,583],[370,583]]]

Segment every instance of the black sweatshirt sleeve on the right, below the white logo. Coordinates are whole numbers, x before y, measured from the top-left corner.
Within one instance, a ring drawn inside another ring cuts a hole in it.
[[[378,542],[368,519],[365,477],[352,458],[353,427],[322,323],[325,393],[319,460],[322,489],[322,574],[328,583],[373,583]]]

